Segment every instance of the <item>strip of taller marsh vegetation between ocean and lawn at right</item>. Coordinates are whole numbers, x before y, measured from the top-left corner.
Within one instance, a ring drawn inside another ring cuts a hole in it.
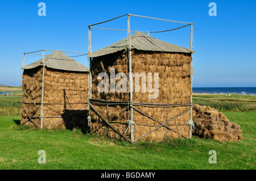
[[[256,111],[256,96],[255,95],[238,95],[231,94],[194,94],[193,103],[201,106],[210,106],[218,111]]]

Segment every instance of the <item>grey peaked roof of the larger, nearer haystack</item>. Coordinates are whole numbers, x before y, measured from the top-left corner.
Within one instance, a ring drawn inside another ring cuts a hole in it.
[[[89,54],[89,57],[99,57],[105,54],[115,53],[128,47],[128,38],[120,40],[108,47],[102,48]],[[152,36],[146,35],[142,32],[136,32],[131,35],[131,47],[137,50],[148,50],[156,52],[180,52],[180,53],[193,53],[194,51],[158,40]]]

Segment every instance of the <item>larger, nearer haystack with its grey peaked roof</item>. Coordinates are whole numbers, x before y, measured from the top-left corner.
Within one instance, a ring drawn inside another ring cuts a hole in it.
[[[131,139],[131,142],[162,141],[164,138],[189,137],[191,108],[191,61],[192,50],[155,39],[142,32],[131,35],[132,73],[147,75],[146,92],[142,92],[142,79],[139,79],[139,92],[133,86],[133,100],[129,101],[129,92],[98,91],[101,79],[99,73],[110,69],[117,73],[129,74],[129,57],[127,38],[106,48],[89,54],[92,57],[92,98],[90,99],[90,128],[92,132],[107,135],[110,138]],[[152,73],[151,83],[154,87],[154,73],[159,74],[159,92],[156,99],[148,99],[153,94],[148,91],[147,73]],[[115,79],[114,85],[120,79]],[[110,83],[109,83],[110,85]],[[135,78],[133,79],[135,85]],[[110,86],[109,86],[110,87]],[[127,78],[127,89],[129,81]],[[134,132],[129,129],[133,104]],[[170,121],[171,120],[171,121]],[[106,121],[108,123],[106,123]],[[165,126],[161,126],[169,121]],[[129,132],[130,131],[130,132]],[[133,137],[131,137],[133,132]]]

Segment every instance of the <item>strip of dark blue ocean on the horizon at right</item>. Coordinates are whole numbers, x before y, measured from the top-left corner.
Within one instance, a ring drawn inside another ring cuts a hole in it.
[[[256,87],[193,87],[193,93],[256,95]]]

